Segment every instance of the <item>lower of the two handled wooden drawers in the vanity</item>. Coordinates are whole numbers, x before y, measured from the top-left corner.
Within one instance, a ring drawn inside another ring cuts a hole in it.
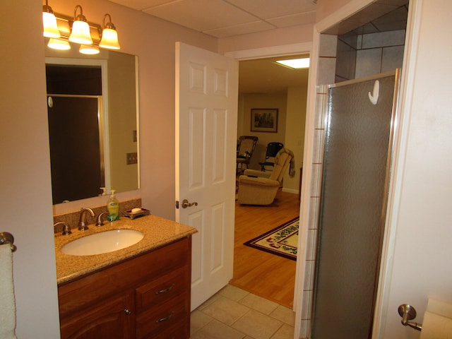
[[[187,304],[187,295],[182,293],[172,301],[155,307],[136,318],[136,337],[154,338],[157,333],[171,331],[180,323],[189,322],[190,307]]]

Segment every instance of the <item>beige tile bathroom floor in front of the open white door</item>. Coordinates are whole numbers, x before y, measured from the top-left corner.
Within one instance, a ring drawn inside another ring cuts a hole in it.
[[[191,339],[293,339],[295,312],[227,285],[191,312]]]

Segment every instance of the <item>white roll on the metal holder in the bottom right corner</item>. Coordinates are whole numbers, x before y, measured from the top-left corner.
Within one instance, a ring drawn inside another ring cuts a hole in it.
[[[452,304],[429,299],[422,321],[421,339],[452,338]]]

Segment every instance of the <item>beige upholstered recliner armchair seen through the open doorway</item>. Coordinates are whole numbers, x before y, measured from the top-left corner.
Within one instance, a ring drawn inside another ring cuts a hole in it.
[[[287,148],[281,148],[275,156],[273,172],[246,169],[244,175],[239,177],[239,196],[237,201],[244,205],[270,205],[270,203],[273,203],[289,166],[290,177],[294,177],[294,154]]]

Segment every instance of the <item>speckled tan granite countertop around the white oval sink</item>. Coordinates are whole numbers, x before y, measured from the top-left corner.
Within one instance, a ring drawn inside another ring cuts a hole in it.
[[[58,284],[92,273],[105,266],[137,256],[138,254],[169,244],[170,242],[174,242],[175,240],[182,239],[189,234],[197,232],[194,227],[160,218],[156,215],[147,215],[134,219],[121,217],[114,222],[106,221],[104,222],[104,225],[100,227],[97,227],[94,224],[88,226],[89,230],[79,231],[75,228],[70,235],[61,235],[61,233],[55,234]],[[61,248],[65,244],[75,239],[99,232],[127,228],[142,232],[144,234],[143,239],[125,249],[119,249],[118,251],[112,251],[105,254],[71,256],[69,254],[64,254],[61,251]]]

